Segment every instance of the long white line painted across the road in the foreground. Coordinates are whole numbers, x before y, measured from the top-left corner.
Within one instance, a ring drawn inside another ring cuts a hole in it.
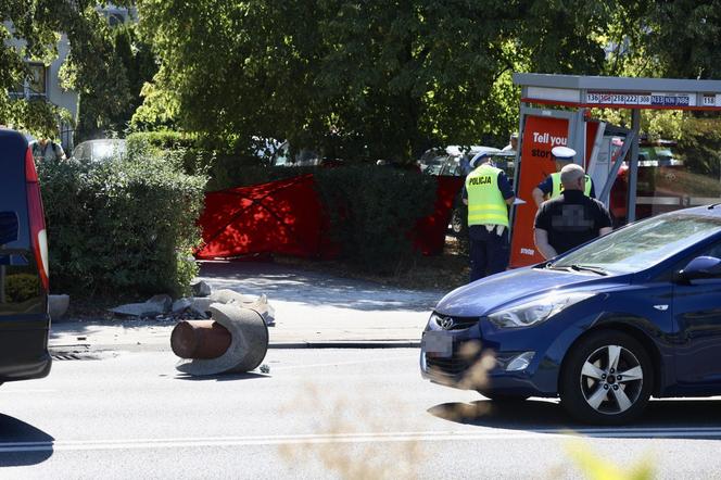
[[[379,432],[379,433],[329,433],[262,437],[217,437],[187,439],[126,439],[126,440],[59,440],[55,442],[0,442],[1,453],[138,450],[138,449],[181,449],[202,446],[267,446],[293,444],[339,444],[339,443],[400,443],[438,442],[469,440],[548,440],[549,438],[721,438],[721,427],[699,428],[624,428],[624,429],[560,429],[511,431],[427,431],[427,432]]]

